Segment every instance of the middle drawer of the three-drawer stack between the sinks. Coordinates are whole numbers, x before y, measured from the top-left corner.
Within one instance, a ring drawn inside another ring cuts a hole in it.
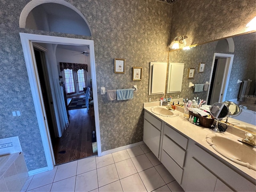
[[[186,151],[164,135],[162,149],[183,168]]]

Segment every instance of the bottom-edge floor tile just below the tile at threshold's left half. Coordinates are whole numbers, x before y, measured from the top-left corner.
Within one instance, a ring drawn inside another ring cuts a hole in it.
[[[71,192],[75,190],[76,176],[52,184],[51,192]]]

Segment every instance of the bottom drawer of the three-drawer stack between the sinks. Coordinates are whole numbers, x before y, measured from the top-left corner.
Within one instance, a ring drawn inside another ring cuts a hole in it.
[[[165,166],[165,168],[172,174],[172,176],[175,178],[175,180],[181,184],[181,178],[182,178],[182,168],[176,164],[176,162],[170,158],[170,156],[162,150],[161,155],[161,162]]]

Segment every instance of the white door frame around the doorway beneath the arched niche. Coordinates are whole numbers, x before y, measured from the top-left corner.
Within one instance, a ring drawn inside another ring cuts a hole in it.
[[[92,40],[82,40],[82,39],[72,39],[72,38],[62,38],[62,37],[54,37],[54,36],[43,36],[43,35],[35,35],[35,34],[24,34],[20,33],[20,38],[22,42],[22,48],[24,52],[26,67],[28,69],[28,77],[30,81],[30,87],[32,90],[32,97],[34,100],[35,110],[36,110],[36,116],[38,119],[38,125],[41,132],[41,138],[44,146],[44,152],[46,155],[46,161],[47,161],[47,167],[46,168],[40,168],[39,170],[33,170],[29,174],[36,174],[39,172],[52,170],[55,165],[54,160],[54,150],[52,147],[52,141],[50,136],[50,129],[47,121],[47,115],[46,110],[44,106],[44,100],[42,95],[42,90],[40,87],[40,80],[38,77],[38,70],[36,66],[36,59],[34,56],[34,47],[33,43],[44,43],[49,45],[48,48],[52,48],[48,50],[46,58],[49,60],[49,58],[55,58],[54,60],[51,60],[49,63],[55,63],[54,68],[57,69],[57,62],[56,62],[56,56],[55,56],[55,50],[56,44],[67,44],[72,46],[84,46],[87,45],[90,48],[90,71],[91,71],[91,79],[92,79],[92,92],[94,95],[94,123],[95,123],[95,130],[96,130],[96,138],[97,138],[97,154],[98,156],[101,156],[101,146],[100,146],[100,127],[99,127],[99,114],[98,114],[98,98],[97,98],[97,85],[96,85],[96,68],[95,68],[95,61],[94,61],[94,43]],[[53,68],[52,68],[53,69]],[[54,88],[56,90],[56,84],[54,84],[54,78],[58,78],[59,74],[54,74],[52,72],[52,69],[48,69],[48,74],[52,78],[49,78],[50,87]],[[50,71],[50,72],[49,72]],[[57,76],[57,77],[56,77]],[[52,93],[52,103],[53,106],[56,105],[56,93],[51,90]],[[57,111],[56,111],[57,110]],[[87,109],[82,109],[87,110]],[[54,114],[56,116],[56,119],[61,119],[61,116],[59,115],[60,110],[58,107],[54,107]],[[62,111],[63,112],[63,111]],[[58,116],[56,115],[58,114]],[[58,131],[62,132],[58,129]],[[59,133],[58,133],[59,134]],[[74,138],[74,140],[76,140]]]

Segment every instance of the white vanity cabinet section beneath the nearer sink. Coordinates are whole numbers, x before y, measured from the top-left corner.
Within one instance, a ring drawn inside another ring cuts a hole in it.
[[[189,141],[181,183],[185,191],[252,191],[255,184]]]

